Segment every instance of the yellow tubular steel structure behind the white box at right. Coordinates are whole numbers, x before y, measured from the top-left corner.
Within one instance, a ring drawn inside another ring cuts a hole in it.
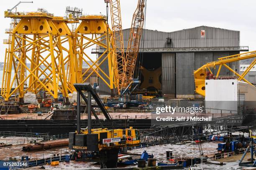
[[[227,65],[227,63],[236,62],[236,61],[240,61],[240,60],[246,60],[248,58],[254,58],[254,57],[256,57],[256,51],[251,51],[251,52],[245,52],[245,53],[236,54],[236,55],[230,55],[227,57],[220,57],[220,58],[218,58],[217,61],[206,63],[205,65],[203,65],[202,67],[200,67],[199,69],[194,71],[195,91],[198,94],[205,96],[205,79],[207,78],[207,72],[210,72],[210,74],[212,74],[211,68],[216,69],[216,66],[218,66],[216,78],[219,77],[221,67],[224,66],[228,70],[233,72],[238,77],[238,80],[243,80],[244,82],[247,82],[248,84],[252,85],[250,82],[248,82],[248,80],[246,80],[244,78],[244,76],[251,70],[253,65],[256,64],[256,59],[254,59],[253,62],[251,62],[249,67],[243,72],[242,75],[239,75],[235,70],[230,68]]]

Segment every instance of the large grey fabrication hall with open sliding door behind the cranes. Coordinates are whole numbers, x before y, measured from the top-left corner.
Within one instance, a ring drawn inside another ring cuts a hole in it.
[[[129,33],[130,29],[123,30],[125,48]],[[240,47],[240,32],[235,30],[200,26],[174,32],[145,29],[143,33],[139,53],[139,57],[143,56],[140,88],[155,88],[166,98],[201,97],[195,94],[194,70],[219,57],[248,51],[248,47]],[[228,65],[239,72],[238,62]],[[108,69],[108,63],[101,68]],[[213,70],[214,74],[216,72]],[[223,67],[220,76],[228,75],[233,72]],[[109,91],[102,80],[99,80],[99,87]]]

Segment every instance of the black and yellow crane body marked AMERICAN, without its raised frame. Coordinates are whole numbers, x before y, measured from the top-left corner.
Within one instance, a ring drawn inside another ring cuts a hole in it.
[[[69,133],[69,149],[76,150],[74,160],[90,158],[97,160],[101,168],[116,168],[120,148],[138,145],[139,131],[132,127],[127,129],[98,128]]]

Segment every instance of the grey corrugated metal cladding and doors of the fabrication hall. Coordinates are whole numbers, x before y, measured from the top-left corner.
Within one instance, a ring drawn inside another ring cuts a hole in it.
[[[201,30],[205,30],[205,37],[201,37]],[[124,45],[127,47],[130,29],[123,30]],[[164,47],[238,47],[240,32],[200,26],[196,28],[179,30],[175,32],[161,32],[155,30],[144,30],[144,48]],[[171,37],[172,43],[167,46],[166,38]],[[142,46],[141,46],[142,47]],[[218,60],[219,57],[234,55],[235,52],[177,52],[162,53],[162,92],[163,94],[176,95],[178,97],[195,94],[193,71],[206,62]],[[175,56],[176,55],[176,56]],[[176,63],[175,63],[176,60]],[[176,81],[175,81],[176,64]],[[230,67],[239,70],[238,62],[230,63]],[[108,63],[104,62],[102,70],[108,70]],[[216,67],[218,69],[218,66]],[[213,71],[214,74],[217,70]],[[101,74],[102,75],[102,74]],[[222,68],[220,75],[233,75],[228,69]],[[175,83],[176,82],[176,83]],[[109,87],[99,79],[100,89],[109,91]],[[175,92],[176,86],[176,92]]]

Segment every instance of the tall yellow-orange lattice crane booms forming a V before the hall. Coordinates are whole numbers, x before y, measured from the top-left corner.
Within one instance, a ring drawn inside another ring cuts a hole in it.
[[[105,0],[108,7],[110,2],[110,15],[113,29],[113,50],[115,59],[117,61],[116,75],[118,75],[118,94],[122,96],[128,90],[131,89],[132,85],[135,86],[130,90],[131,92],[138,86],[140,81],[137,77],[133,77],[134,70],[136,67],[136,61],[139,52],[140,39],[143,32],[144,23],[144,1],[138,0],[136,11],[133,14],[131,30],[129,35],[128,46],[126,55],[124,54],[123,45],[123,32],[122,32],[122,21],[120,13],[120,1],[119,0]]]

